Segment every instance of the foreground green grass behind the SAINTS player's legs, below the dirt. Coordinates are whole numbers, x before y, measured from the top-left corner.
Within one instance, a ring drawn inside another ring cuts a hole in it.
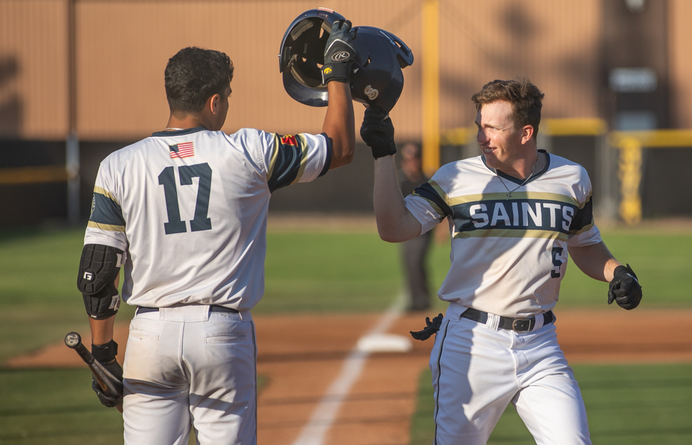
[[[683,445],[692,443],[692,364],[576,365],[574,374],[589,417],[594,444]],[[422,373],[411,445],[434,437],[430,371]],[[489,445],[536,442],[513,406],[495,427]]]

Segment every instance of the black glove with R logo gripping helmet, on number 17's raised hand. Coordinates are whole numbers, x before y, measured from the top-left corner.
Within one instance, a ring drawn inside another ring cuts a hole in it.
[[[325,45],[325,64],[322,66],[322,83],[330,81],[348,83],[351,73],[351,63],[355,58],[353,47],[355,31],[351,31],[350,21],[337,20],[332,24]]]

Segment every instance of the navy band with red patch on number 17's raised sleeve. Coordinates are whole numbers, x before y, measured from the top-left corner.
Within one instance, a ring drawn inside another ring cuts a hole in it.
[[[305,171],[307,140],[302,135],[274,134],[270,159],[267,183],[271,192],[297,183]]]

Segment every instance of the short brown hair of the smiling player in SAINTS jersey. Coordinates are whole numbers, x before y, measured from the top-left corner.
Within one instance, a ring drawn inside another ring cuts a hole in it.
[[[534,127],[534,136],[538,134],[541,123],[541,107],[544,93],[527,78],[516,81],[492,81],[486,83],[481,91],[475,93],[471,100],[476,104],[476,111],[486,103],[507,101],[512,104],[514,128],[530,125]]]

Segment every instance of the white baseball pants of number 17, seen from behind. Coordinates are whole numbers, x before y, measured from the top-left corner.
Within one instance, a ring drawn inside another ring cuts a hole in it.
[[[130,324],[124,364],[126,445],[257,444],[250,312],[162,308]]]

